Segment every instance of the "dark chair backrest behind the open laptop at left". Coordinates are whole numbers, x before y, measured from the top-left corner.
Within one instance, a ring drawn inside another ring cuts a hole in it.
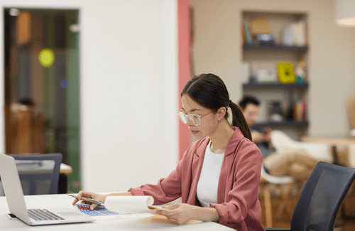
[[[24,195],[56,194],[62,154],[9,155],[16,161]]]

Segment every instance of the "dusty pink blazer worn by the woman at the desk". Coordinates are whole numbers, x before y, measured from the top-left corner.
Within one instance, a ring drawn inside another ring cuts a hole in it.
[[[219,224],[238,231],[264,230],[258,200],[263,161],[261,151],[238,127],[233,128],[234,134],[226,146],[219,175],[217,204],[210,203],[209,207],[217,209]],[[156,205],[180,197],[182,203],[198,205],[196,189],[208,142],[206,137],[191,144],[175,170],[156,185],[146,184],[129,190],[133,195],[152,195]]]

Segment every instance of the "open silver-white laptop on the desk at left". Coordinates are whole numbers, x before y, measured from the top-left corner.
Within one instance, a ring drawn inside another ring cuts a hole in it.
[[[27,209],[15,159],[12,156],[0,154],[0,177],[10,213],[28,225],[54,225],[95,220],[93,217],[69,207]],[[45,215],[42,215],[43,213]]]

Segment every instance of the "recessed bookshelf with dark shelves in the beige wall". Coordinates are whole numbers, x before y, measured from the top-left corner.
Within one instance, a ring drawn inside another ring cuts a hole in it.
[[[266,31],[271,31],[273,42],[256,39],[253,31],[260,29],[255,26],[258,26],[254,22],[256,20],[267,22],[268,28]],[[309,126],[307,120],[307,92],[309,89],[307,64],[310,48],[307,44],[307,14],[300,12],[242,11],[242,22],[243,95],[251,95],[261,101],[261,113],[255,126],[261,129],[271,127],[272,129],[293,130],[291,136],[298,139],[305,135]],[[305,63],[306,77],[304,79],[298,79],[297,81],[296,77],[295,82],[290,83],[281,83],[278,80],[276,67],[279,62],[292,63],[295,71],[301,61]],[[265,73],[266,70],[273,73],[272,77],[267,80],[260,74],[261,71]],[[252,80],[251,76],[253,76]],[[260,79],[261,81],[259,81]],[[269,119],[271,113],[269,105],[275,101],[280,102],[282,106],[284,116],[282,122],[274,122]],[[301,113],[303,114],[301,116],[298,114],[299,109],[295,107],[295,104],[299,105],[299,102],[302,102],[302,107],[305,107],[305,109],[302,109]]]

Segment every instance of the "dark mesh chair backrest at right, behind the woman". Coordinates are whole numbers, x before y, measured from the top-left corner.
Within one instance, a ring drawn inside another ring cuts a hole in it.
[[[339,206],[354,178],[355,168],[318,162],[297,201],[291,230],[333,230]]]

